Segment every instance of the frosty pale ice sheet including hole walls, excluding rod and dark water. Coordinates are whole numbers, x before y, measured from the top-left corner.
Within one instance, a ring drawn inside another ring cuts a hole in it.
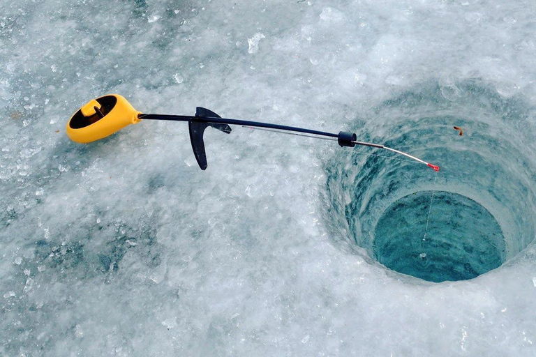
[[[1,8],[1,355],[536,354],[533,1]],[[237,128],[207,130],[202,172],[180,123],[70,142],[70,115],[105,93],[355,130],[445,171],[432,187],[425,167]],[[343,183],[361,169],[376,180],[357,197]],[[433,284],[353,244],[396,195],[433,189],[484,204],[506,264]]]

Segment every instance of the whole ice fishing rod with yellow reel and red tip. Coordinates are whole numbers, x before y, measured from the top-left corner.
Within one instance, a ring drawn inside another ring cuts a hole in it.
[[[112,135],[114,132],[130,125],[137,124],[144,120],[165,120],[165,121],[187,121],[190,132],[190,142],[192,144],[195,160],[198,161],[199,167],[207,169],[207,154],[204,150],[203,134],[209,126],[230,134],[231,125],[244,126],[246,128],[258,128],[260,130],[269,130],[283,132],[293,135],[313,137],[315,139],[328,139],[338,142],[341,146],[354,147],[356,145],[369,146],[375,149],[385,149],[407,158],[420,162],[434,171],[439,171],[439,166],[432,165],[429,162],[416,158],[408,153],[389,148],[381,144],[357,141],[357,135],[352,132],[341,131],[338,134],[332,132],[323,132],[318,130],[296,128],[294,126],[282,126],[278,124],[262,123],[259,121],[246,121],[239,119],[226,119],[218,114],[211,112],[209,109],[197,107],[195,116],[189,115],[166,115],[166,114],[144,114],[138,112],[124,97],[119,94],[110,94],[100,98],[90,100],[86,105],[69,119],[67,123],[67,135],[74,142],[89,143],[103,139]]]

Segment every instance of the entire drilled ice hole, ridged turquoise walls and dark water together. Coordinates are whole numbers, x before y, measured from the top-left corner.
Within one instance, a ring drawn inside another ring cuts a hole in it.
[[[326,162],[335,239],[431,282],[498,268],[535,238],[534,116],[522,98],[476,80],[426,84],[359,114],[359,139],[441,169],[368,148],[336,151]]]

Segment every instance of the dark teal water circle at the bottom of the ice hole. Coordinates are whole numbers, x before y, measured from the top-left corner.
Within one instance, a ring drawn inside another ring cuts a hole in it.
[[[493,215],[474,200],[422,191],[385,210],[375,227],[373,252],[399,273],[431,282],[468,280],[502,264],[505,239]]]

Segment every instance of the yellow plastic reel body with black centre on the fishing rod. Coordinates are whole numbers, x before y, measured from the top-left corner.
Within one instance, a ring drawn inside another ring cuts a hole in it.
[[[69,119],[67,136],[82,144],[94,142],[114,132],[137,124],[138,112],[131,103],[119,94],[109,94],[89,101]]]

